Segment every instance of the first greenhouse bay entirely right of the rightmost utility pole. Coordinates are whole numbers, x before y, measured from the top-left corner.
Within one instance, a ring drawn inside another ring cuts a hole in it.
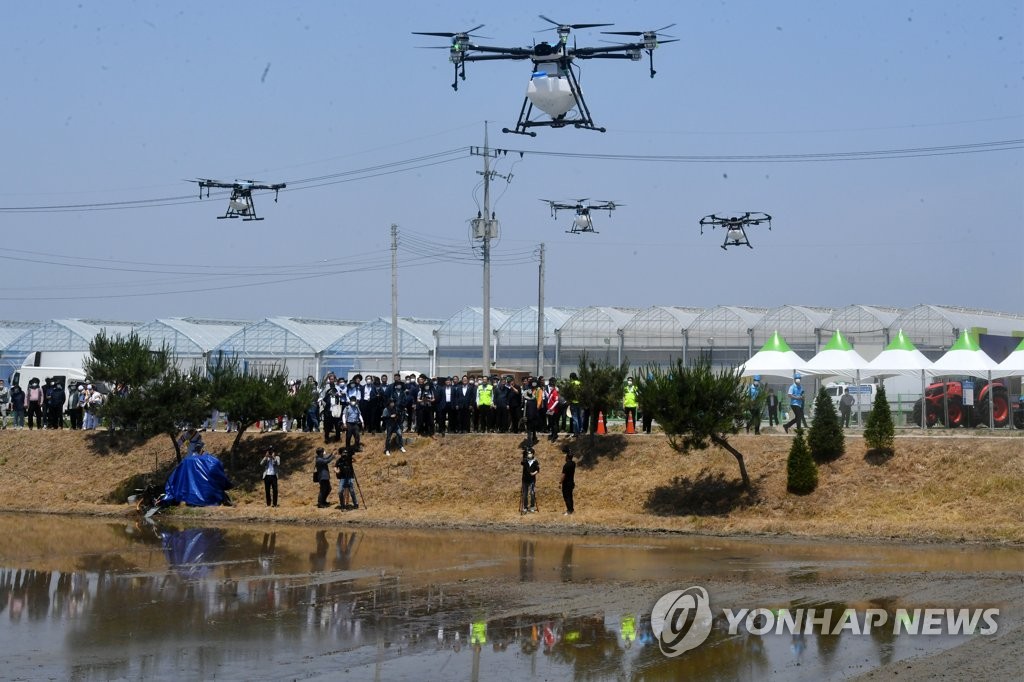
[[[555,331],[555,374],[567,376],[589,357],[612,365],[623,361],[620,330],[640,312],[639,308],[591,306],[578,310]]]

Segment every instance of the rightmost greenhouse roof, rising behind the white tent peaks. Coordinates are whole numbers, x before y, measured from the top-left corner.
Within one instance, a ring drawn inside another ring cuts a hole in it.
[[[970,330],[978,334],[981,349],[1000,363],[1024,336],[1024,315],[925,304],[904,311],[891,329],[893,334],[903,330],[930,360],[938,359],[962,331]]]

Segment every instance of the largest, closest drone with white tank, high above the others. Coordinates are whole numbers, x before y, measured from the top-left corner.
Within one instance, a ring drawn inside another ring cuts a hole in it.
[[[483,25],[473,27],[469,31],[458,33],[451,32],[422,32],[414,31],[418,36],[438,36],[451,38],[449,46],[449,61],[455,65],[455,82],[452,87],[459,89],[459,80],[466,80],[467,61],[494,61],[498,59],[529,59],[534,62],[534,70],[529,77],[529,84],[526,86],[526,96],[522,100],[522,108],[519,110],[519,121],[515,128],[502,128],[502,132],[518,133],[536,137],[537,133],[529,128],[538,126],[548,126],[550,128],[563,128],[571,125],[574,128],[586,130],[597,130],[604,132],[605,128],[599,128],[594,124],[594,119],[590,115],[590,109],[583,98],[583,91],[580,89],[580,79],[577,74],[579,68],[573,59],[631,59],[639,61],[642,52],[647,52],[650,59],[650,77],[654,78],[654,50],[659,43],[674,43],[678,39],[658,40],[662,31],[670,29],[675,24],[662,27],[654,31],[602,31],[601,33],[614,36],[634,36],[641,40],[632,43],[613,44],[606,47],[577,47],[573,41],[572,46],[568,44],[569,33],[578,29],[592,29],[596,27],[612,26],[611,24],[560,24],[548,18],[544,14],[540,15],[548,24],[557,27],[558,40],[553,44],[550,42],[536,43],[532,47],[494,47],[489,45],[476,45],[470,41],[474,37],[473,32],[482,29]],[[530,116],[534,108],[541,110],[550,117],[550,120],[535,120]],[[575,110],[575,117],[569,117],[569,113]]]

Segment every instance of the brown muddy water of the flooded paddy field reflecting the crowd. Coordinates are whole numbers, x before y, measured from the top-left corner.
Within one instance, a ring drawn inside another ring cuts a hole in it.
[[[834,626],[996,606],[1008,627],[1020,588],[991,586],[1024,567],[1014,549],[176,523],[0,515],[2,676],[840,679],[965,637],[729,634],[721,609],[828,608]],[[651,607],[694,585],[711,635],[667,657]]]

